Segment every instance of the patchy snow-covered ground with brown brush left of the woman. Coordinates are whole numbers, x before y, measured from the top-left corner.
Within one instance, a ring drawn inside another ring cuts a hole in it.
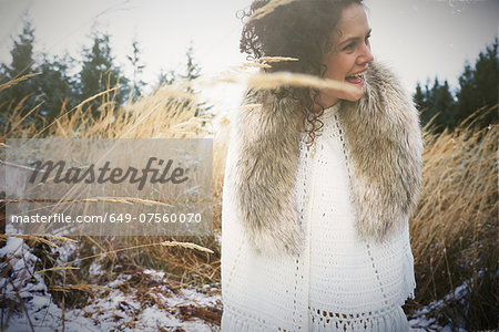
[[[210,286],[206,286],[206,293],[192,289],[172,290],[163,272],[144,270],[134,278],[151,286],[146,293],[143,289],[124,292],[122,289],[126,289],[131,276],[122,274],[103,284],[112,290],[96,291],[90,304],[62,310],[52,300],[42,276],[35,273],[37,260],[20,238],[9,237],[0,249],[0,271],[6,270],[6,262],[12,267],[10,277],[0,279],[1,298],[4,299],[1,302],[7,303],[1,305],[0,314],[4,331],[218,330],[215,322],[222,312],[222,301]],[[98,266],[92,266],[91,271],[102,273]],[[12,303],[19,308],[8,318]]]

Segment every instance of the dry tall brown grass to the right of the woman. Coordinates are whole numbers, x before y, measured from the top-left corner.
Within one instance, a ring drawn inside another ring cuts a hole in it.
[[[497,105],[452,133],[425,135],[424,187],[411,222],[416,302],[441,300],[432,313],[452,328],[498,324],[498,125],[473,126],[487,112]]]

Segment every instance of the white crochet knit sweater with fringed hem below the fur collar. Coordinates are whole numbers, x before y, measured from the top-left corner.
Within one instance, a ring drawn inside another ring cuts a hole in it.
[[[357,237],[339,105],[325,111],[313,147],[301,142],[295,190],[306,250],[296,257],[258,256],[245,239],[230,184],[237,137],[231,139],[222,212],[222,331],[408,330],[401,305],[416,286],[408,222],[383,243]]]

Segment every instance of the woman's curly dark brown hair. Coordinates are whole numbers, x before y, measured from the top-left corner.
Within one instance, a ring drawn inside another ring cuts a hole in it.
[[[291,56],[298,61],[273,63],[265,72],[304,73],[323,77],[327,66],[320,63],[324,53],[330,51],[330,34],[342,18],[342,11],[363,0],[295,0],[275,8],[263,18],[249,19],[243,27],[240,49],[248,60],[263,56]],[[240,18],[251,18],[269,0],[255,0]],[[304,127],[309,142],[315,139],[323,123],[319,117],[324,105],[318,101],[319,91],[312,87],[282,87],[274,92],[278,97],[291,96],[299,101]],[[309,125],[306,125],[308,123]]]

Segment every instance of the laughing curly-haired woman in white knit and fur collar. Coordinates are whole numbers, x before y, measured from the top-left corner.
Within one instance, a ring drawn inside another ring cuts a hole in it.
[[[408,330],[420,126],[373,62],[360,2],[295,0],[244,27],[249,55],[298,59],[267,71],[348,89],[246,94],[223,195],[223,331]]]

